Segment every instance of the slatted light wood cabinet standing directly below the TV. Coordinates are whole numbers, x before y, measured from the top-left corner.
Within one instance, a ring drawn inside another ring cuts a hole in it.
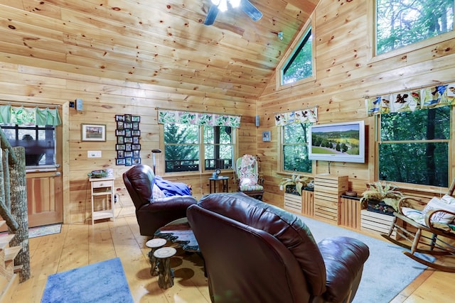
[[[339,224],[340,196],[348,190],[348,176],[314,177],[314,218]]]

